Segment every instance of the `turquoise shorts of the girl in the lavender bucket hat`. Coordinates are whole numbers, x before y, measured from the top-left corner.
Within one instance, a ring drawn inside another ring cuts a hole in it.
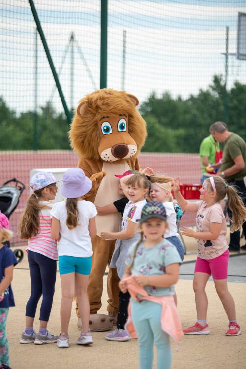
[[[76,256],[59,256],[58,259],[59,273],[78,273],[83,275],[89,275],[92,268],[92,257],[79,258]]]

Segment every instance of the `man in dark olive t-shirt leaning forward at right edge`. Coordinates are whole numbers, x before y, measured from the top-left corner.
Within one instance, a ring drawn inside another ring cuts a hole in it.
[[[233,132],[229,132],[223,122],[215,122],[210,126],[209,132],[218,142],[224,142],[223,162],[218,172],[228,184],[237,187],[238,195],[246,205],[246,143],[242,137]],[[213,166],[216,168],[217,166]],[[228,209],[229,217],[232,217]],[[246,222],[243,224],[243,232],[246,240]],[[246,244],[241,247],[246,249]],[[230,251],[240,250],[240,231],[230,234]]]

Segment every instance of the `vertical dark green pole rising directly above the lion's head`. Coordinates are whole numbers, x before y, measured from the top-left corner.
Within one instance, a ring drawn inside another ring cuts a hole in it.
[[[107,87],[108,0],[101,0],[101,67],[100,88]]]

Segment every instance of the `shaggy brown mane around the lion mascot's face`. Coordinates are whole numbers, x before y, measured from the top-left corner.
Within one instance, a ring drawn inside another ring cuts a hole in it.
[[[139,155],[147,132],[146,123],[136,108],[137,98],[125,91],[102,89],[86,95],[80,104],[83,101],[86,101],[84,111],[75,113],[69,131],[71,146],[80,157],[100,160],[98,146],[101,138],[97,122],[110,114],[128,114],[128,132],[137,144],[135,155]]]

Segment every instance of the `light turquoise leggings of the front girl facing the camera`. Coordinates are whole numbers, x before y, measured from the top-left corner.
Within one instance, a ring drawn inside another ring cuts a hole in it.
[[[144,301],[132,302],[131,306],[138,335],[140,369],[152,369],[153,343],[157,348],[157,369],[170,369],[172,351],[169,336],[161,329],[161,305]]]

